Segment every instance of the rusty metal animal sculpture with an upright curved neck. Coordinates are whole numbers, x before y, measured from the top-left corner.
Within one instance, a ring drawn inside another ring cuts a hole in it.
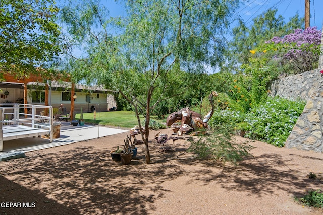
[[[177,131],[178,135],[183,133],[188,134],[198,129],[206,129],[207,122],[212,117],[214,113],[214,97],[217,97],[218,93],[213,91],[208,96],[208,100],[211,103],[211,110],[204,116],[202,120],[201,114],[190,110],[188,107],[183,108],[177,112],[171,113],[166,120],[166,125],[171,126],[174,131]],[[181,122],[180,125],[176,125],[176,122]],[[196,132],[193,132],[196,134]]]

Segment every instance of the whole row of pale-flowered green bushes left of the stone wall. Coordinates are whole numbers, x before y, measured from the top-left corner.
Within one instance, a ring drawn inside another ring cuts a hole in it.
[[[214,112],[208,122],[212,129],[222,125],[246,131],[245,137],[283,147],[305,106],[304,101],[268,98],[244,114],[234,109]]]

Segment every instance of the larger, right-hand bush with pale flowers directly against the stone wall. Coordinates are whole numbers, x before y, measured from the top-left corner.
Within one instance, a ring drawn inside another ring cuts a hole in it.
[[[283,147],[304,106],[304,101],[268,98],[267,102],[252,107],[246,114],[245,137]]]

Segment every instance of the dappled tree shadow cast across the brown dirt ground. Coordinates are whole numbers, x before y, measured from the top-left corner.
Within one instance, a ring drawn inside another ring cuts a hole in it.
[[[150,165],[144,164],[142,155],[130,165],[113,162],[106,150],[93,146],[39,153],[6,162],[0,182],[11,184],[20,194],[28,193],[21,201],[37,201],[40,206],[51,202],[49,209],[54,214],[56,210],[60,214],[147,214],[155,210],[157,199],[172,192],[163,187],[163,182],[182,176],[189,178],[187,184],[216,181],[226,190],[258,196],[277,189],[298,196],[308,184],[320,183],[307,179],[290,159],[278,154],[263,153],[232,166],[199,161],[185,152],[187,148],[181,144],[173,152],[161,153],[152,143]],[[15,195],[11,192],[7,197],[3,201],[12,201]]]

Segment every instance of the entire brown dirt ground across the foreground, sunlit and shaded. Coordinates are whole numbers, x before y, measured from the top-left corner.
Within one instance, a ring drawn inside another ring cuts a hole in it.
[[[249,141],[252,157],[239,166],[197,160],[189,142],[163,153],[151,131],[151,164],[122,165],[110,151],[127,133],[26,153],[0,162],[0,214],[322,214],[295,197],[323,189],[323,153]],[[139,137],[138,137],[139,139]]]

